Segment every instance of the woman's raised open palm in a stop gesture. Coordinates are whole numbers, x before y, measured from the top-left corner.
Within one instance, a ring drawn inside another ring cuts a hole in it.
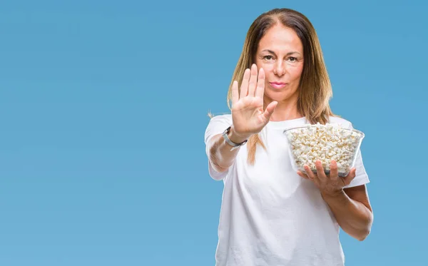
[[[276,101],[272,101],[266,109],[263,108],[263,94],[265,93],[265,72],[253,64],[246,69],[243,83],[238,90],[238,81],[232,86],[232,119],[233,131],[241,138],[249,138],[250,135],[259,133],[269,122]]]

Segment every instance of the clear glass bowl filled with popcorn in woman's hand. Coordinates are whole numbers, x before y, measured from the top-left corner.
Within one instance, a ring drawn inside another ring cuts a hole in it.
[[[330,163],[337,162],[339,176],[344,177],[354,166],[364,133],[330,123],[308,124],[284,131],[290,143],[290,157],[297,170],[305,172],[308,165],[316,173],[315,161],[321,160],[326,174],[330,173]]]

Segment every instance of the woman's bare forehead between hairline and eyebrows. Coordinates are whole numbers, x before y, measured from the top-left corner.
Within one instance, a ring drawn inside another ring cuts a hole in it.
[[[302,41],[294,30],[277,24],[266,31],[265,36],[260,39],[258,50],[276,50],[276,51],[298,51],[302,53]]]

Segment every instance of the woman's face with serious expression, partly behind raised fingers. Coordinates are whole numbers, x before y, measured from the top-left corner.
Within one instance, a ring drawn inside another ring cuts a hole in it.
[[[267,30],[255,59],[258,69],[265,71],[265,98],[278,103],[297,101],[303,46],[295,31],[282,24]]]

